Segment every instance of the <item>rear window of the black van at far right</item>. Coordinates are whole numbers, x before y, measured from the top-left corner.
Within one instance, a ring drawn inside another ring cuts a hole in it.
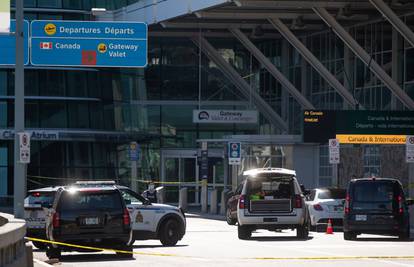
[[[362,181],[353,187],[353,208],[357,210],[392,210],[398,186],[392,182]]]

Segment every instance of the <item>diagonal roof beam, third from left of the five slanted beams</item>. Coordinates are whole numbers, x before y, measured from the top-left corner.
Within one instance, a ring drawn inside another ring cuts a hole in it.
[[[336,77],[312,54],[312,52],[283,24],[279,19],[269,19],[269,22],[285,37],[285,39],[302,55],[302,57],[334,88],[343,99],[356,108],[358,101],[341,84]]]

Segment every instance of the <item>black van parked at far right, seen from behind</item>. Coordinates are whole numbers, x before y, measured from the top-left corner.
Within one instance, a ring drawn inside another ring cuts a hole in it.
[[[362,233],[408,239],[408,205],[412,204],[397,179],[352,179],[345,198],[344,239],[354,240]]]

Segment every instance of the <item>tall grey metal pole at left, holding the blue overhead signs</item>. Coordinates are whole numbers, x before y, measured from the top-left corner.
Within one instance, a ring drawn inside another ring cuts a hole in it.
[[[24,36],[23,0],[16,0],[16,66],[14,99],[14,215],[24,218],[24,198],[26,196],[26,164],[20,163],[19,136],[24,131]]]

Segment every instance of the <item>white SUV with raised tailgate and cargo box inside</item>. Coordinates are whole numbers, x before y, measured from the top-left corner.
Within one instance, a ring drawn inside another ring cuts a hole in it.
[[[257,229],[296,229],[298,238],[308,237],[309,215],[294,170],[252,169],[243,176],[237,205],[239,239],[251,238]]]

